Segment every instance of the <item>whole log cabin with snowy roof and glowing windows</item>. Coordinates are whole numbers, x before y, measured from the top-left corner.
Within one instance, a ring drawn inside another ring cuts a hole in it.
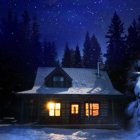
[[[53,127],[119,128],[122,96],[105,71],[38,68],[34,87],[17,93],[18,120]]]

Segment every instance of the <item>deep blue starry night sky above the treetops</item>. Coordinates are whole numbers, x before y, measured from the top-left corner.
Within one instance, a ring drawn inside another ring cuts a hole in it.
[[[61,58],[66,42],[71,48],[79,44],[82,50],[87,31],[96,35],[104,53],[105,34],[113,13],[120,15],[127,29],[140,15],[140,0],[0,0],[0,17],[8,8],[18,15],[24,10],[37,15],[41,39],[55,41]]]

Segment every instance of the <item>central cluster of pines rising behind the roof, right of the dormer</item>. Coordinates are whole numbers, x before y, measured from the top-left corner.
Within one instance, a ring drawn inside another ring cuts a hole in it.
[[[78,44],[74,50],[70,49],[68,43],[66,43],[62,67],[97,68],[97,62],[102,62],[101,54],[101,47],[97,38],[94,34],[90,37],[87,32],[84,41],[83,56],[81,55]]]

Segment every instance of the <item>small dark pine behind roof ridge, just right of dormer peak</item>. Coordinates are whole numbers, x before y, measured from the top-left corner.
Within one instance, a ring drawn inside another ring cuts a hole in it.
[[[64,50],[64,55],[63,55],[63,58],[62,58],[62,67],[69,68],[69,67],[71,67],[71,65],[72,65],[71,51],[69,49],[68,43],[66,43],[65,50]]]

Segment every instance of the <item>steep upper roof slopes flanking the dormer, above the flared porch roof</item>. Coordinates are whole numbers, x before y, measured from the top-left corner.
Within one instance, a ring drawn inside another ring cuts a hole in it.
[[[102,86],[113,88],[112,83],[105,71],[100,71],[97,76],[96,69],[87,68],[62,68],[72,79],[73,87],[95,87]],[[55,68],[38,68],[35,86],[43,86],[44,78],[50,75]]]

